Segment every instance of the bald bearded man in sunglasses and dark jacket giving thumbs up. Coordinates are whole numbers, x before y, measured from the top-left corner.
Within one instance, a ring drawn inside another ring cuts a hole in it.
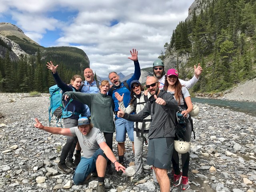
[[[152,122],[148,132],[147,164],[153,165],[156,179],[161,192],[170,192],[170,180],[167,169],[171,167],[171,158],[174,148],[175,129],[169,115],[174,119],[178,110],[178,103],[171,93],[160,90],[158,78],[149,77],[146,88],[152,95],[146,106],[138,114],[124,113],[120,109],[118,117],[139,122],[151,115]]]

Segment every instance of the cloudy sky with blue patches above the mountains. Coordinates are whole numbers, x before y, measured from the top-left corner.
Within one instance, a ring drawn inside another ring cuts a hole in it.
[[[151,67],[188,16],[194,0],[0,0],[0,22],[10,22],[38,44],[84,50],[98,76],[133,73],[130,50]]]

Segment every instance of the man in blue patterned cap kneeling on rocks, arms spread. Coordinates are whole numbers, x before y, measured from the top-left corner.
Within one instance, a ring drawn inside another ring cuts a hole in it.
[[[98,128],[93,127],[87,117],[78,119],[78,127],[60,128],[60,127],[46,127],[43,126],[37,118],[35,118],[36,128],[42,129],[52,134],[60,134],[66,136],[77,136],[80,146],[82,148],[84,157],[81,157],[80,163],[74,172],[74,184],[79,185],[90,178],[92,172],[97,170],[98,186],[97,191],[105,191],[104,177],[107,167],[107,158],[114,163],[116,170],[125,168],[122,166],[114,156],[112,150],[108,147],[102,133]]]

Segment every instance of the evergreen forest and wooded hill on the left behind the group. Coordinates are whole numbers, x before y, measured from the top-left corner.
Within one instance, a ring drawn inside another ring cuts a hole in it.
[[[33,55],[21,55],[18,61],[12,61],[10,50],[7,49],[5,58],[0,58],[0,91],[49,92],[49,87],[56,84],[52,71],[46,67],[46,63],[50,61],[59,65],[58,74],[66,84],[70,84],[74,74],[83,78],[83,71],[89,64],[84,57],[85,53],[77,50],[79,49],[73,47],[44,48],[42,56],[41,50],[37,48],[36,53],[31,52]]]

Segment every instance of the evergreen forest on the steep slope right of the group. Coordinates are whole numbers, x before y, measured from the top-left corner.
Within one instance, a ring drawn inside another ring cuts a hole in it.
[[[180,78],[191,78],[186,69],[200,63],[203,72],[194,92],[224,91],[255,78],[256,1],[201,0],[199,7],[204,7],[200,14],[194,11],[192,19],[176,26],[159,58],[189,54],[186,65],[177,62]]]

